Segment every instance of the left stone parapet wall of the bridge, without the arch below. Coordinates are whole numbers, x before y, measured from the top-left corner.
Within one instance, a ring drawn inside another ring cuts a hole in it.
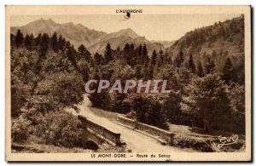
[[[87,141],[91,139],[96,140],[98,144],[101,144],[102,141],[107,141],[108,143],[114,146],[119,146],[121,144],[119,133],[115,133],[110,129],[107,129],[102,125],[95,123],[82,115],[79,115],[78,117],[84,129],[85,138],[82,141]],[[100,139],[101,141],[99,141],[98,139]]]

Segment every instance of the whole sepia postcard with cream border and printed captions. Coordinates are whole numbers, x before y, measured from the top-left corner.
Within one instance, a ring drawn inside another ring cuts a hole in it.
[[[251,161],[250,6],[6,6],[6,160]]]

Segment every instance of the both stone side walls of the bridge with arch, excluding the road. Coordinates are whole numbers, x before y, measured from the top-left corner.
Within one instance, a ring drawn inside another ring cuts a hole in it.
[[[96,150],[104,142],[112,146],[122,146],[125,144],[121,142],[121,135],[119,133],[113,132],[83,115],[78,115],[78,118],[82,123],[83,135],[81,139],[82,145],[85,148]],[[119,123],[119,125],[125,125],[136,132],[152,137],[162,145],[172,146],[174,144],[174,134],[170,131],[159,129],[145,123],[138,123],[135,120],[123,116],[118,116],[116,120],[116,123]]]

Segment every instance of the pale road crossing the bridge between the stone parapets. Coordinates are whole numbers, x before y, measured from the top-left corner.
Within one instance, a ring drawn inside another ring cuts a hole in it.
[[[80,115],[90,118],[95,123],[101,124],[107,129],[121,134],[121,140],[126,143],[127,150],[132,152],[184,152],[177,147],[163,146],[157,140],[154,140],[147,135],[143,135],[132,129],[125,128],[117,123],[113,123],[107,117],[97,116],[94,112],[90,111],[90,100],[84,95],[84,101],[79,106]]]

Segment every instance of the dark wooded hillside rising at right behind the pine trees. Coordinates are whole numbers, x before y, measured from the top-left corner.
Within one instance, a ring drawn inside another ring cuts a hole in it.
[[[244,47],[244,16],[241,15],[189,31],[166,51],[174,58],[183,50],[186,60],[193,54],[196,64],[205,64],[207,57],[210,57],[216,62],[218,72],[226,58],[230,57],[239,77],[244,77]]]

